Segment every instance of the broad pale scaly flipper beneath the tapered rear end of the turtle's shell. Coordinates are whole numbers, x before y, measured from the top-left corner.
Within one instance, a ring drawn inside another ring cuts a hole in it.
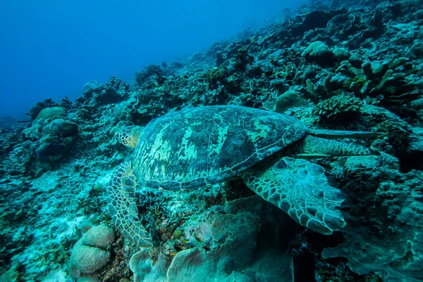
[[[345,195],[329,186],[324,168],[308,160],[281,158],[270,167],[249,169],[245,184],[295,222],[329,235],[345,226],[339,210]]]

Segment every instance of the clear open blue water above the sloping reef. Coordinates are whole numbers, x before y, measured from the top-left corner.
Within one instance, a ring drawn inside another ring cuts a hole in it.
[[[301,1],[295,2],[295,6]],[[37,101],[71,100],[91,79],[182,60],[292,1],[0,1],[0,116],[25,117]],[[267,22],[266,22],[267,20]]]

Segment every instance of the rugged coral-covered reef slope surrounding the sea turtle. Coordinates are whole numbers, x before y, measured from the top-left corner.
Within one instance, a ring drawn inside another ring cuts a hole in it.
[[[148,65],[133,84],[87,82],[76,101],[2,118],[0,280],[423,281],[422,25],[418,1],[310,1],[181,63]],[[379,156],[312,160],[346,195],[346,227],[302,228],[235,179],[138,186],[153,248],[118,236],[106,185],[133,152],[116,132],[203,105],[378,132],[353,142]]]

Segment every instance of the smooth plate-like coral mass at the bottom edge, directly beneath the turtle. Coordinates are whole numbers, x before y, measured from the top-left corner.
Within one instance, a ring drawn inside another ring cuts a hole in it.
[[[195,224],[197,238],[206,241],[172,259],[160,256],[154,264],[147,251],[135,253],[130,259],[135,281],[293,281],[293,259],[286,250],[298,226],[257,196],[232,201],[224,211],[201,229]],[[267,231],[288,227],[292,231],[278,237]]]

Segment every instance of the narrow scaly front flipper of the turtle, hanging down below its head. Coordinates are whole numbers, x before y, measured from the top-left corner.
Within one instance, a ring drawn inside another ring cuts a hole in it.
[[[137,181],[130,162],[118,165],[106,188],[106,201],[111,219],[125,238],[140,247],[152,247],[152,238],[138,218],[135,203]]]

